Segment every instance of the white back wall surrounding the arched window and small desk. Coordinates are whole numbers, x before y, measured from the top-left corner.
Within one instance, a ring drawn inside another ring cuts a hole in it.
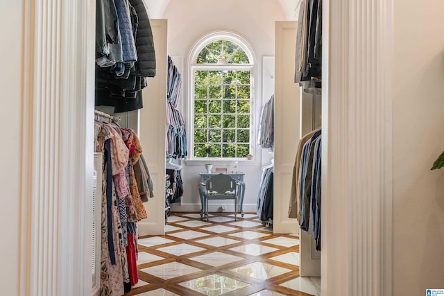
[[[168,51],[169,55],[184,57],[185,71],[188,71],[187,61],[189,51],[194,44],[208,33],[214,31],[232,31],[244,37],[253,47],[256,58],[255,128],[258,126],[262,104],[269,97],[262,98],[262,56],[274,55],[274,28],[276,20],[286,20],[287,14],[282,10],[279,1],[266,0],[228,0],[218,5],[209,4],[205,0],[180,1],[172,0],[163,15],[168,19]],[[183,71],[182,71],[183,72]],[[182,92],[183,100],[187,100],[187,72],[184,74]],[[187,114],[183,112],[185,121]],[[191,132],[191,131],[188,131]],[[261,151],[255,153],[255,162],[239,162],[239,171],[246,173],[246,195],[244,211],[255,211],[257,190],[261,177]],[[266,159],[269,162],[269,157]],[[186,165],[182,168],[184,196],[182,205],[175,204],[173,211],[199,211],[198,173],[204,171],[203,164]],[[214,164],[214,166],[217,166]],[[225,164],[229,170],[234,163]],[[221,204],[224,202],[221,201]],[[227,204],[231,204],[227,202]],[[213,210],[210,207],[210,210]],[[227,207],[231,211],[230,207]]]

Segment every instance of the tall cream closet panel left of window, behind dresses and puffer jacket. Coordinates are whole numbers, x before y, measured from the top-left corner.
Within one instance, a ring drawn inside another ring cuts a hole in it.
[[[122,126],[135,130],[144,149],[144,157],[153,179],[155,197],[144,203],[148,218],[137,223],[139,236],[164,234],[165,225],[167,19],[150,19],[150,23],[154,39],[156,75],[153,78],[148,78],[148,86],[142,90],[144,107],[124,113],[113,113],[114,107],[96,107],[97,110],[119,116]]]

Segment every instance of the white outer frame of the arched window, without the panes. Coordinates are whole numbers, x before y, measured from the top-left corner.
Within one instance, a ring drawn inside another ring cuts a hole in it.
[[[197,64],[196,58],[200,51],[204,49],[207,44],[218,40],[228,40],[233,42],[244,50],[246,55],[248,56],[248,60],[250,64]],[[211,162],[212,164],[231,164],[232,162],[250,162],[246,157],[194,157],[194,72],[195,71],[212,71],[212,70],[233,70],[233,71],[242,71],[248,70],[250,71],[250,154],[253,155],[253,160],[256,160],[257,157],[257,147],[255,143],[257,142],[257,126],[255,124],[256,116],[255,116],[255,78],[257,76],[256,73],[256,60],[255,55],[253,53],[253,49],[246,42],[246,40],[240,35],[228,31],[216,31],[214,33],[210,33],[202,37],[194,47],[191,49],[191,53],[189,55],[189,83],[188,83],[188,126],[187,126],[187,134],[188,134],[188,156],[187,156],[187,164],[203,164],[207,162]],[[237,142],[235,142],[237,143]],[[250,162],[255,163],[255,161]]]

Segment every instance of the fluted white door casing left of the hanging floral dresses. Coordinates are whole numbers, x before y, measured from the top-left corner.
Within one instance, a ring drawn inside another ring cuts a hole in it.
[[[24,3],[20,295],[87,295],[95,3]]]

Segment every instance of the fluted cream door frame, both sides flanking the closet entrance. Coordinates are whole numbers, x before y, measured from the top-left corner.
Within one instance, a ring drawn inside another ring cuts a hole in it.
[[[24,5],[20,295],[87,295],[95,1]],[[392,294],[392,6],[323,1],[323,295]]]

